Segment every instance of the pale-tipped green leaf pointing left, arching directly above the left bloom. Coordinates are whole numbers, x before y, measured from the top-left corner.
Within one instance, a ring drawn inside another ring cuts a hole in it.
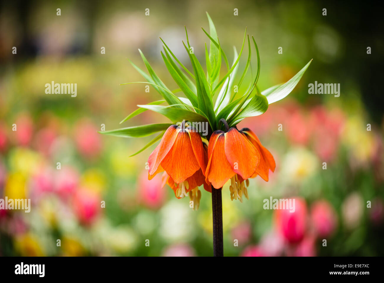
[[[160,113],[167,118],[169,118],[172,122],[181,122],[185,121],[195,121],[195,122],[207,122],[207,118],[201,114],[198,114],[193,111],[189,111],[187,109],[179,109],[175,108],[175,105],[137,105],[138,107],[142,107],[145,109],[152,110],[154,112]]]

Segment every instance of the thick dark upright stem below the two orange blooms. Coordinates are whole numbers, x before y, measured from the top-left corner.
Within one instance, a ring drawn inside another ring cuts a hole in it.
[[[223,256],[223,206],[221,188],[212,186],[212,220],[214,236],[214,256]]]

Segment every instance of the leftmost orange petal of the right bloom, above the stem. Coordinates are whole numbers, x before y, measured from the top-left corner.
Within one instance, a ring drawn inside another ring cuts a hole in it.
[[[208,164],[205,172],[205,180],[210,181],[212,186],[220,189],[228,179],[235,175],[232,167],[225,157],[225,136],[223,131],[215,131],[208,145]]]

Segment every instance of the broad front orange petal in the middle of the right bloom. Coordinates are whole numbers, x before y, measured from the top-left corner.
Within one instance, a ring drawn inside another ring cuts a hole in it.
[[[233,171],[248,179],[260,163],[260,153],[237,129],[225,133],[225,156]]]

